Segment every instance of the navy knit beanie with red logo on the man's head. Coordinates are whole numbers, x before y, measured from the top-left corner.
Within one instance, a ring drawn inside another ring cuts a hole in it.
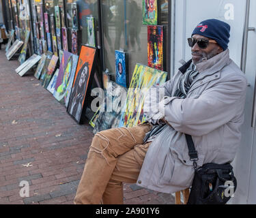
[[[223,50],[226,50],[227,44],[229,44],[229,32],[230,26],[227,24],[227,22],[209,19],[200,22],[199,25],[195,27],[191,36],[198,34],[211,38],[212,40],[218,42],[218,45],[221,46]]]

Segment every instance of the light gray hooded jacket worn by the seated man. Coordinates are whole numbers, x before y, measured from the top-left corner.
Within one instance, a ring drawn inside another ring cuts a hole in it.
[[[228,49],[197,64],[199,75],[193,80],[186,99],[180,99],[173,95],[184,67],[157,87],[158,91],[165,90],[159,107],[147,111],[154,99],[152,95],[147,95],[144,104],[148,121],[154,123],[165,114],[169,125],[152,141],[137,185],[165,193],[192,185],[195,170],[184,133],[193,137],[198,167],[210,162],[230,163],[240,145],[240,127],[244,121],[246,78],[229,59]]]

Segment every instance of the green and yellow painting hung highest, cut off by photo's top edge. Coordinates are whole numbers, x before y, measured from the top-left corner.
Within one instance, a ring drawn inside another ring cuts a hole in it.
[[[158,10],[157,0],[142,1],[143,25],[157,25],[157,18],[158,18],[157,10]]]

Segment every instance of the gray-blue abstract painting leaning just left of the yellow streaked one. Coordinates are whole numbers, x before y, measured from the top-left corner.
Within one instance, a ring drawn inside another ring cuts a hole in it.
[[[126,101],[122,99],[126,99],[127,89],[117,83],[109,81],[104,93],[104,103],[100,105],[99,110],[91,119],[91,124],[94,125],[94,134],[98,131],[118,127],[122,108],[126,104]]]

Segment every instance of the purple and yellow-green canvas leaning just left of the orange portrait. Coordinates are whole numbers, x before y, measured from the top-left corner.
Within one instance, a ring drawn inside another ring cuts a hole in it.
[[[63,51],[62,59],[59,65],[59,76],[55,85],[53,96],[61,104],[68,107],[72,84],[74,81],[74,74],[76,72],[76,65],[79,61],[77,55],[73,55],[66,50]]]

